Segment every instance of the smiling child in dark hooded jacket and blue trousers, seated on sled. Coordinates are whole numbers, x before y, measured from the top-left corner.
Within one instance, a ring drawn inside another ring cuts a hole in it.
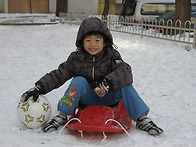
[[[85,19],[78,30],[77,51],[21,96],[21,101],[27,101],[30,96],[36,101],[40,94],[46,94],[73,78],[58,102],[59,113],[43,126],[44,132],[63,126],[67,115],[71,115],[78,105],[113,106],[121,99],[131,118],[136,121],[136,128],[150,135],[163,132],[146,116],[149,108],[132,86],[131,67],[112,45],[112,35],[100,19]]]

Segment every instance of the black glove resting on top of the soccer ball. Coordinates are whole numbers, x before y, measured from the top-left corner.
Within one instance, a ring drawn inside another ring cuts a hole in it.
[[[43,91],[44,89],[42,85],[35,85],[35,87],[29,89],[28,91],[22,94],[20,101],[26,102],[31,96],[33,96],[34,101],[37,101],[39,95],[42,94]]]

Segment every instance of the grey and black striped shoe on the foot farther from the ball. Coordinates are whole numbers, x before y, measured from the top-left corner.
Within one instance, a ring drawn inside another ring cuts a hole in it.
[[[148,132],[150,135],[157,136],[163,132],[150,118],[142,115],[136,122],[136,128]]]

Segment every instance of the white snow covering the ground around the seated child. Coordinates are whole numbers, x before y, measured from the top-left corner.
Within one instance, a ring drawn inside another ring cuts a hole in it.
[[[152,137],[132,123],[126,133],[80,133],[60,129],[43,133],[24,128],[16,107],[23,92],[58,67],[76,49],[77,25],[0,25],[0,146],[179,147],[196,144],[196,50],[186,44],[112,32],[124,61],[133,69],[134,87],[149,105],[149,117],[164,133]],[[56,105],[70,81],[46,94]]]

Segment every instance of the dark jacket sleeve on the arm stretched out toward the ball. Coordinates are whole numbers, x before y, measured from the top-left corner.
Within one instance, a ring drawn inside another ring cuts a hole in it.
[[[68,57],[67,61],[61,63],[58,69],[45,74],[35,84],[41,84],[44,87],[44,93],[46,94],[53,89],[56,89],[63,85],[67,80],[71,79],[74,75],[73,68],[73,53]]]

